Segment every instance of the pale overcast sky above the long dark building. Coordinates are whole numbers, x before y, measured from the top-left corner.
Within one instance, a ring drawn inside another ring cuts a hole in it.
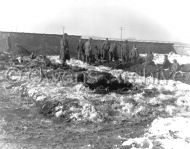
[[[0,0],[0,30],[190,43],[189,0]]]

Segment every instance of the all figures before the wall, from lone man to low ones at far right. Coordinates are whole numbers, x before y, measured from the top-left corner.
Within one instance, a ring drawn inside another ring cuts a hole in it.
[[[89,38],[87,41],[83,42],[82,38],[79,39],[76,48],[77,58],[79,60],[89,64],[94,64],[103,61],[104,63],[120,62],[122,64],[128,64],[128,67],[140,64],[140,67],[144,69],[152,69],[152,67],[149,66],[156,67],[153,61],[154,54],[151,50],[147,50],[147,56],[143,58],[140,57],[139,50],[136,47],[136,45],[133,45],[132,48],[130,48],[129,42],[127,40],[123,41],[121,45],[118,45],[116,41],[109,41],[108,38],[106,38],[106,40],[102,42],[102,45],[94,45],[92,44],[92,40],[92,38]],[[60,45],[60,59],[64,64],[66,60],[70,59],[68,37],[66,33],[63,35],[63,38],[61,39]],[[119,46],[121,46],[120,56],[118,51]],[[121,58],[120,61],[119,57]],[[177,72],[180,69],[180,65],[175,59],[173,60],[173,63],[171,63],[168,59],[168,56],[165,55],[164,62],[161,66],[159,66],[159,70],[168,68],[170,69],[169,77],[172,77],[175,74],[175,72]],[[161,74],[163,75],[163,73]]]

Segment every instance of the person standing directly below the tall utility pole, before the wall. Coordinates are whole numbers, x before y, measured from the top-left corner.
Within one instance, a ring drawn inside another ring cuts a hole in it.
[[[122,58],[121,58],[122,62],[124,62],[124,63],[129,62],[130,49],[129,49],[127,40],[125,40],[124,43],[122,44],[121,50],[122,50]]]

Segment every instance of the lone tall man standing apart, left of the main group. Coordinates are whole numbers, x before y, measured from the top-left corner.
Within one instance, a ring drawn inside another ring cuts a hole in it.
[[[63,38],[60,40],[60,59],[62,63],[65,64],[66,60],[70,60],[70,53],[69,53],[69,43],[68,43],[68,35],[65,33],[63,34]]]

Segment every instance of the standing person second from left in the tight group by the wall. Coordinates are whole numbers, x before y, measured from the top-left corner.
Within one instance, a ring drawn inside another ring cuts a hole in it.
[[[87,63],[91,63],[91,57],[92,57],[92,38],[88,39],[88,41],[85,42],[84,45],[85,49],[85,59]]]

